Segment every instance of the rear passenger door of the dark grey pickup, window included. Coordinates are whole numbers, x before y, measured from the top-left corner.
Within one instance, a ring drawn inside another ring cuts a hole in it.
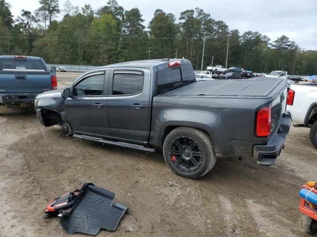
[[[112,137],[147,142],[150,84],[150,69],[111,70],[107,114]]]

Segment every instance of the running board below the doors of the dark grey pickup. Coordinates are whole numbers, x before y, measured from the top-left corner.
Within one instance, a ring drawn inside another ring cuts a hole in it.
[[[102,139],[99,137],[79,135],[79,134],[74,134],[73,137],[84,139],[84,140],[89,140],[89,141],[94,141],[94,142],[99,142],[99,143],[103,143],[103,144],[118,146],[118,147],[130,148],[130,149],[144,151],[144,152],[151,152],[151,153],[155,152],[155,149],[144,147],[142,145],[136,145],[136,144],[126,143],[126,142],[109,141],[109,140],[105,140],[105,139]]]

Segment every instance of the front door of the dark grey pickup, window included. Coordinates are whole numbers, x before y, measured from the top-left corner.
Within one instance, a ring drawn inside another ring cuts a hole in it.
[[[66,120],[76,133],[110,136],[106,100],[109,71],[94,72],[72,87],[65,100]]]

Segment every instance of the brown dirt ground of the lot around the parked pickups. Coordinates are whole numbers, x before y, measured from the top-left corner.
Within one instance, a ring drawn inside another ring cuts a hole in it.
[[[57,76],[63,87],[78,74]],[[176,176],[161,153],[64,139],[59,131],[42,126],[32,107],[0,108],[0,236],[67,236],[57,217],[43,219],[43,209],[84,182],[129,206],[118,229],[99,237],[308,236],[298,192],[317,177],[309,129],[291,128],[273,166],[222,158],[201,180]]]

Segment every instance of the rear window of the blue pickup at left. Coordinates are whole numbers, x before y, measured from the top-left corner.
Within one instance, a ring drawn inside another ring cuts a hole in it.
[[[41,70],[46,71],[44,63],[39,59],[1,58],[0,71]]]

